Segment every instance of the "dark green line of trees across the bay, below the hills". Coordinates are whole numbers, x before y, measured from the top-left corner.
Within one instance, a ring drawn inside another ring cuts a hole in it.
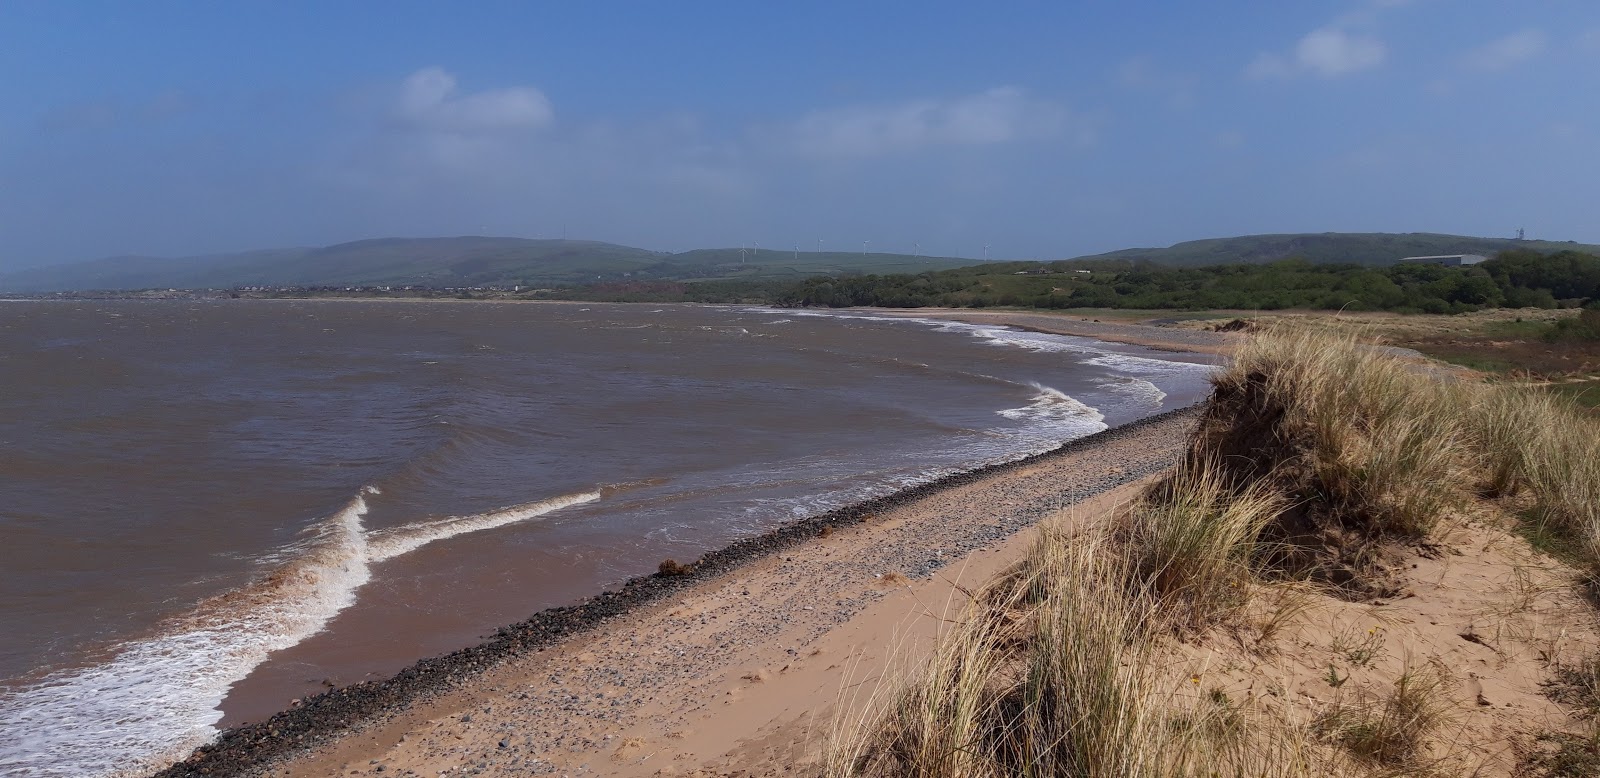
[[[614,303],[750,303],[786,307],[1344,309],[1459,314],[1600,301],[1600,256],[1502,251],[1469,267],[1267,264],[1166,267],[1141,261],[994,263],[906,275],[600,283],[542,296]]]

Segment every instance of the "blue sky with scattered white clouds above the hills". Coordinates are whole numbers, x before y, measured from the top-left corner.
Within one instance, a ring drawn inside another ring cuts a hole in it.
[[[1594,0],[0,0],[0,271],[370,237],[1600,242]]]

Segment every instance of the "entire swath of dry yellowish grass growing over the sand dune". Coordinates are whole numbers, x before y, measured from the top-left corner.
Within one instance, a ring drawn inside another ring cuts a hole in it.
[[[1600,424],[1547,394],[1293,331],[1253,338],[1213,381],[1187,459],[1110,520],[1042,528],[842,733],[827,775],[1424,775],[1438,676],[1296,720],[1203,693],[1173,640],[1251,597],[1294,602],[1296,559],[1421,547],[1480,498],[1600,571]]]

